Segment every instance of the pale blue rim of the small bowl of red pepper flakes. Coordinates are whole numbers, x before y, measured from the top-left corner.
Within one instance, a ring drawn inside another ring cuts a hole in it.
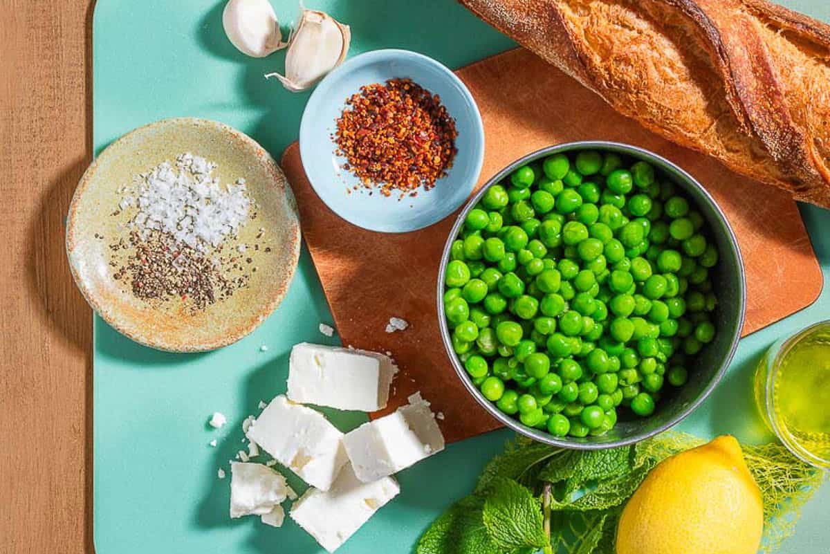
[[[464,100],[465,104],[468,104],[471,107],[471,113],[473,118],[471,119],[471,131],[474,135],[472,137],[473,148],[468,148],[470,150],[475,150],[472,158],[472,173],[469,179],[462,179],[462,182],[468,182],[469,184],[465,187],[467,195],[469,195],[474,187],[476,186],[476,182],[478,181],[478,177],[481,175],[481,168],[484,165],[484,148],[485,148],[485,134],[484,134],[484,122],[481,119],[481,110],[478,108],[478,104],[476,104],[476,99],[473,98],[472,93],[464,84],[458,75],[452,72],[450,68],[442,64],[440,61],[431,58],[425,54],[420,52],[411,51],[411,50],[404,50],[401,48],[381,48],[378,50],[366,51],[357,56],[351,57],[348,60],[344,61],[340,66],[334,68],[334,70],[330,71],[328,75],[325,75],[320,83],[315,86],[315,89],[311,92],[308,101],[305,103],[305,107],[303,109],[302,117],[300,118],[300,133],[298,135],[298,143],[300,144],[300,162],[303,163],[303,169],[305,170],[305,162],[303,161],[305,157],[303,156],[303,144],[307,144],[307,141],[303,140],[304,137],[309,137],[312,133],[310,119],[307,115],[310,113],[310,109],[313,109],[315,103],[320,103],[321,99],[323,99],[323,95],[325,95],[328,90],[326,90],[325,85],[327,83],[333,82],[334,80],[338,80],[341,75],[348,73],[350,70],[354,70],[355,67],[365,66],[369,63],[374,61],[395,61],[395,60],[403,60],[403,59],[411,59],[421,62],[427,66],[432,66],[438,70],[438,72],[454,85],[454,88],[460,91],[461,98]],[[368,83],[367,83],[368,84]],[[307,147],[306,147],[307,148]],[[453,166],[454,168],[455,166]],[[450,169],[452,171],[452,168]],[[305,171],[306,177],[308,177],[308,181],[311,185],[311,188],[314,189],[315,194],[317,197],[320,197],[320,200],[328,207],[331,211],[334,212],[337,216],[339,216],[344,221],[349,222],[350,224],[360,227],[361,229],[366,229],[367,231],[375,231],[380,233],[388,233],[388,234],[398,234],[398,233],[408,233],[411,231],[420,231],[428,226],[435,225],[438,221],[443,221],[447,216],[451,216],[452,212],[456,211],[459,207],[464,205],[463,196],[460,196],[461,200],[458,202],[452,202],[447,205],[442,211],[437,213],[437,216],[429,218],[416,226],[407,226],[402,229],[390,228],[389,226],[379,226],[373,225],[370,221],[355,221],[353,216],[349,215],[349,211],[342,209],[341,207],[335,207],[330,202],[328,202],[325,198],[324,194],[321,194],[321,188],[319,184],[315,184],[314,178],[311,177],[311,173]],[[419,189],[420,190],[420,189]],[[432,190],[430,192],[436,192]],[[452,208],[452,209],[451,209]]]

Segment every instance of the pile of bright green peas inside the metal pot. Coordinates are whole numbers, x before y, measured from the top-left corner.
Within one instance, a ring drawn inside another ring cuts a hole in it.
[[[650,416],[715,338],[705,224],[644,161],[583,150],[522,166],[452,242],[452,347],[483,396],[551,435]]]

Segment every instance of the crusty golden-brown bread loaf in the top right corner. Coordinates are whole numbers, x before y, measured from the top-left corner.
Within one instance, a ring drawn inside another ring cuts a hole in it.
[[[461,3],[647,129],[830,207],[830,26],[764,0]]]

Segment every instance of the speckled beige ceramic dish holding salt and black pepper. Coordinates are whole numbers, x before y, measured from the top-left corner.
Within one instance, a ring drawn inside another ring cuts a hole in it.
[[[110,245],[129,236],[129,216],[118,213],[121,187],[181,153],[217,163],[213,175],[222,185],[244,177],[256,213],[227,242],[228,249],[247,245],[240,262],[256,271],[248,270],[247,286],[198,310],[137,298],[129,279],[115,279],[110,265]],[[66,252],[81,292],[112,327],[149,347],[200,352],[251,333],[280,304],[300,256],[300,219],[285,175],[253,139],[214,121],[164,119],[125,134],[86,170],[69,208]]]

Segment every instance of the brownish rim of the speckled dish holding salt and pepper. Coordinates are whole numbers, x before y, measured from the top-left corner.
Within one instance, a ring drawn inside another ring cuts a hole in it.
[[[101,160],[106,155],[111,155],[115,148],[118,148],[121,144],[128,143],[129,140],[133,139],[135,135],[146,133],[156,127],[168,125],[212,127],[229,134],[234,139],[237,139],[242,143],[245,143],[247,147],[251,148],[251,151],[256,154],[256,157],[260,160],[260,162],[265,164],[266,169],[275,178],[275,181],[283,182],[284,186],[282,189],[283,193],[286,195],[286,203],[289,210],[294,215],[295,220],[295,223],[292,226],[295,232],[291,234],[291,240],[286,244],[286,250],[291,250],[291,270],[287,273],[285,282],[275,288],[275,292],[271,294],[265,304],[261,304],[259,309],[256,310],[256,317],[252,317],[249,323],[238,326],[233,329],[232,332],[217,335],[212,340],[206,340],[198,343],[178,343],[166,341],[163,338],[159,338],[159,336],[154,333],[139,333],[136,329],[125,324],[122,319],[111,313],[111,310],[108,308],[107,304],[100,299],[99,294],[96,293],[95,289],[90,287],[85,279],[83,279],[80,271],[76,267],[78,262],[75,256],[72,255],[77,245],[76,235],[78,231],[76,228],[76,211],[78,210],[79,202],[81,202],[81,197],[86,192],[86,188],[89,187],[90,182],[95,177],[95,172],[99,168]],[[125,134],[120,135],[118,138],[107,144],[105,148],[101,148],[100,152],[93,157],[90,165],[87,166],[84,173],[81,175],[81,179],[78,181],[75,191],[72,192],[72,198],[66,214],[66,231],[64,233],[64,249],[66,251],[66,259],[72,279],[75,281],[78,290],[81,291],[81,295],[84,297],[86,303],[89,304],[90,308],[101,319],[103,319],[105,323],[110,325],[110,327],[114,328],[116,331],[135,343],[139,343],[143,346],[154,348],[162,352],[175,353],[209,352],[216,350],[217,348],[226,347],[246,337],[257,327],[259,327],[261,323],[263,323],[266,318],[271,315],[277,307],[279,307],[288,294],[288,288],[291,285],[291,281],[294,280],[297,265],[300,260],[301,241],[300,213],[297,208],[294,192],[291,189],[288,178],[285,173],[283,173],[279,164],[276,163],[276,160],[271,156],[271,153],[269,153],[261,146],[260,143],[256,142],[256,140],[252,139],[249,135],[231,127],[228,124],[224,124],[221,121],[216,121],[214,119],[188,116],[158,119],[149,124],[140,125],[139,127],[130,129]]]

